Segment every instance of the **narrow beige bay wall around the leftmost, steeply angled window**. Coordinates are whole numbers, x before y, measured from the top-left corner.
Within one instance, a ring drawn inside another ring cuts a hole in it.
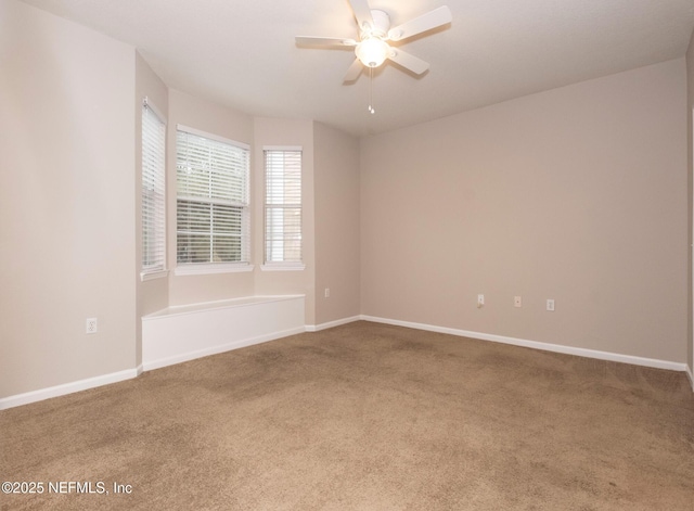
[[[162,79],[156,76],[147,63],[139,53],[136,53],[136,93],[134,93],[134,118],[136,118],[136,282],[137,282],[137,318],[166,308],[169,303],[169,281],[168,278],[157,278],[147,281],[140,279],[140,261],[142,260],[142,101],[147,98],[150,104],[166,117],[168,122],[169,91]],[[167,183],[169,193],[176,188],[170,182]],[[137,363],[142,363],[142,322],[136,321],[137,325]]]

